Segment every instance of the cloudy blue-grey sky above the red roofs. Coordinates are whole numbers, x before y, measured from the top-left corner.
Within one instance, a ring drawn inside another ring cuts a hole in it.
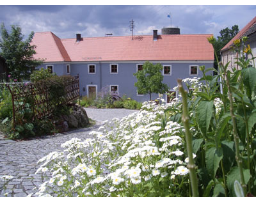
[[[256,16],[255,5],[0,5],[0,23],[31,31],[52,31],[60,38],[161,34],[163,27],[179,27],[180,34],[213,34],[235,24],[241,30]]]

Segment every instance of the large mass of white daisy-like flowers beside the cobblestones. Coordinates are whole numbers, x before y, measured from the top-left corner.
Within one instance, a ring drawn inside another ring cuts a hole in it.
[[[38,161],[42,165],[36,173],[51,176],[35,194],[165,196],[164,190],[175,192],[189,170],[184,128],[174,121],[163,124],[164,110],[172,106],[164,100],[159,105],[144,102],[136,113],[105,121],[98,131],[90,132],[90,138],[61,144],[63,152]]]

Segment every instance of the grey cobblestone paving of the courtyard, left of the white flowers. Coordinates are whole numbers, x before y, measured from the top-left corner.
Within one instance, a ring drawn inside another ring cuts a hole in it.
[[[85,109],[88,117],[97,121],[93,127],[80,128],[54,136],[37,137],[29,141],[4,139],[3,134],[0,133],[0,176],[13,176],[6,185],[5,192],[8,192],[8,196],[24,197],[35,193],[33,189],[44,182],[40,173],[35,175],[40,167],[36,162],[50,152],[63,150],[60,145],[65,141],[74,137],[87,139],[92,130],[97,130],[102,125],[102,121],[122,118],[136,112],[128,109]],[[3,194],[3,181],[0,181],[0,196],[4,196]]]

